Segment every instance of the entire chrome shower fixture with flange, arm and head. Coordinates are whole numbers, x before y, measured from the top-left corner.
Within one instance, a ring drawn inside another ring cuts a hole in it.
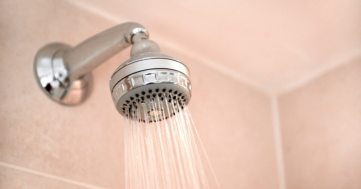
[[[140,120],[169,117],[158,105],[187,104],[191,98],[188,68],[172,56],[160,52],[140,24],[126,22],[105,30],[78,46],[62,43],[42,47],[34,59],[35,77],[43,91],[61,104],[83,102],[91,90],[91,70],[130,46],[131,58],[110,77],[112,99],[121,115],[140,111]]]

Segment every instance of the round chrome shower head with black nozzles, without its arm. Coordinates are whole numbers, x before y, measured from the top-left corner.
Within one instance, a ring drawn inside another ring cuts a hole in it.
[[[141,50],[139,50],[139,47]],[[146,49],[146,50],[144,50]],[[191,98],[189,70],[172,56],[159,52],[156,43],[148,39],[135,42],[131,59],[119,66],[110,78],[110,92],[121,115],[140,111],[140,120],[170,117],[166,103],[188,103]],[[157,108],[151,102],[162,104]],[[175,104],[173,104],[175,105]],[[146,112],[145,112],[146,111]]]

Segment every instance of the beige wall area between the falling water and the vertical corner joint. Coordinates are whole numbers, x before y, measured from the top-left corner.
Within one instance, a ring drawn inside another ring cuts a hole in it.
[[[190,69],[190,112],[221,188],[277,188],[269,97],[186,54],[162,50]]]

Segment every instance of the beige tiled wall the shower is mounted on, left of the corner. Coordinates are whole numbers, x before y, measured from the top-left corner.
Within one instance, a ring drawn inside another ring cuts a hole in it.
[[[109,77],[129,58],[129,49],[93,71],[92,94],[76,107],[46,98],[32,72],[34,55],[44,44],[75,45],[113,25],[66,1],[0,2],[0,163],[93,188],[124,187],[123,121],[110,98]],[[164,52],[190,67],[190,111],[221,187],[277,188],[269,97],[186,54]],[[0,188],[81,187],[0,169]]]

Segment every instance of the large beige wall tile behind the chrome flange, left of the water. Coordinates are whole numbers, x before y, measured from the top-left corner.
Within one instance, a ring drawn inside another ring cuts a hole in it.
[[[109,92],[109,78],[119,62],[112,59],[116,64],[105,63],[94,71],[93,93],[76,107],[48,99],[32,72],[34,55],[44,44],[74,45],[113,23],[65,1],[0,4],[0,160],[92,185],[122,188],[122,117]]]

